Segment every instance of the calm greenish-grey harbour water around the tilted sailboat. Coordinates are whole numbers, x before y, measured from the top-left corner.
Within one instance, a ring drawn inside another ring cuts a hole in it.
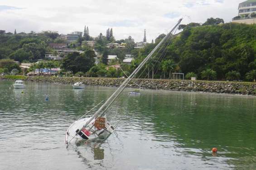
[[[126,89],[109,112],[114,134],[66,148],[68,126],[116,88],[12,83],[0,81],[0,170],[256,169],[255,96]]]

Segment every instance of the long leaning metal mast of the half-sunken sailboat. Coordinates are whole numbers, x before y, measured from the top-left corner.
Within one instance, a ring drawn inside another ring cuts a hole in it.
[[[150,57],[155,53],[155,51],[163,44],[163,42],[171,36],[172,32],[179,26],[183,18],[180,18],[178,23],[174,26],[174,28],[159,42],[159,44],[150,52],[150,54],[140,63],[140,65],[130,74],[128,78],[118,87],[118,89],[107,99],[107,101],[95,112],[95,114],[86,122],[83,127],[87,127],[87,125],[95,118],[97,115],[101,113],[103,115],[106,110],[111,106],[111,104],[116,100],[116,97],[120,95],[120,93],[124,90],[126,85],[134,78],[135,74],[137,74],[140,69],[145,65],[145,63],[150,59]],[[105,108],[105,109],[104,109]],[[104,109],[104,110],[103,110]],[[82,130],[82,129],[81,129]],[[81,131],[80,130],[80,131]],[[79,133],[79,132],[78,132]]]

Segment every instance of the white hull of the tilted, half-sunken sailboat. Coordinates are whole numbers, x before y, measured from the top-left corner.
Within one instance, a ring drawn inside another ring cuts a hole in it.
[[[80,143],[80,142],[86,142],[86,141],[97,141],[97,140],[105,140],[108,138],[113,132],[114,128],[106,122],[106,128],[105,129],[97,129],[94,127],[95,119],[93,119],[89,126],[92,128],[86,128],[87,133],[80,132],[77,133],[78,130],[83,128],[83,125],[87,123],[87,120],[90,118],[83,118],[75,121],[73,124],[71,124],[66,132],[65,142],[68,143]],[[81,135],[82,134],[82,135]]]

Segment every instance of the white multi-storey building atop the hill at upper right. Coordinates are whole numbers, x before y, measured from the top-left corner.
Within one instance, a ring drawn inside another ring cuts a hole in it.
[[[232,18],[233,23],[256,23],[256,0],[246,0],[238,6],[238,16]]]

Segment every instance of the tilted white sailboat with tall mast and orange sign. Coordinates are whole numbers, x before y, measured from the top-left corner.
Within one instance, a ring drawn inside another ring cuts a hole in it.
[[[139,73],[147,61],[150,61],[150,58],[157,51],[157,49],[165,41],[167,41],[168,38],[174,35],[181,21],[182,18],[179,19],[174,28],[158,43],[157,46],[155,46],[153,51],[150,52],[150,54],[140,63],[140,65],[130,74],[128,78],[126,78],[120,87],[118,87],[117,90],[104,103],[101,101],[99,104],[97,104],[97,106],[93,107],[68,127],[65,136],[66,144],[106,140],[106,138],[108,138],[115,131],[117,123],[115,125],[111,125],[111,122],[107,121],[107,114],[110,113],[110,111],[108,111],[109,107],[125,89],[128,83],[132,81],[132,78],[134,78],[135,75]],[[88,116],[92,110],[96,109],[98,106],[100,107],[97,109],[97,111],[93,115]]]

